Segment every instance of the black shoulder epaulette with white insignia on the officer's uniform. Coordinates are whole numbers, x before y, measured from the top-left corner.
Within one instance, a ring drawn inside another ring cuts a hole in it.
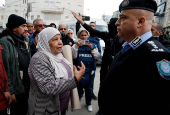
[[[165,47],[157,40],[147,40],[144,44],[150,52],[166,52]]]

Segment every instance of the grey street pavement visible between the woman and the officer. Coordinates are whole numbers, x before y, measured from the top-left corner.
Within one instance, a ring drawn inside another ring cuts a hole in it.
[[[99,83],[100,83],[100,66],[98,65],[96,69],[95,80],[94,80],[94,93],[96,96],[98,96]],[[67,115],[95,115],[96,112],[98,111],[98,100],[92,100],[92,107],[93,107],[92,112],[89,112],[87,110],[85,104],[85,95],[83,95],[83,98],[81,99],[81,110],[72,112],[70,105],[71,104],[69,104]]]

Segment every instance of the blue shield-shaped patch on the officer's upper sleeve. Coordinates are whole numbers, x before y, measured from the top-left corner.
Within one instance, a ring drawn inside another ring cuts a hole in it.
[[[162,61],[156,62],[158,72],[162,78],[170,80],[170,62],[163,59]]]

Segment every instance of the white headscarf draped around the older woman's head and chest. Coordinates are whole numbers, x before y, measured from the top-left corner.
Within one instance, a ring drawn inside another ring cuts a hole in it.
[[[60,32],[53,27],[43,29],[38,35],[36,48],[38,49],[38,52],[42,52],[49,57],[52,66],[55,68],[56,78],[68,79],[67,70],[63,64],[61,64],[61,61],[63,60],[72,69],[71,63],[63,57],[62,53],[54,54],[49,46],[49,41],[57,34],[60,34]]]

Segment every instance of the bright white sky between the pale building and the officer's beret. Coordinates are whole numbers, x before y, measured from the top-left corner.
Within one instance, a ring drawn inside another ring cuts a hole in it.
[[[103,14],[112,15],[119,9],[122,0],[84,0],[84,15],[91,18],[101,18]],[[5,0],[0,0],[0,6]]]

